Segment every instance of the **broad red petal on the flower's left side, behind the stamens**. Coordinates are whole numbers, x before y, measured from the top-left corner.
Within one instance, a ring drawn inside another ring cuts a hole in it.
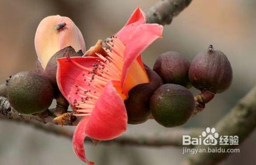
[[[96,57],[71,57],[71,60],[93,70],[93,64],[96,63]],[[77,85],[84,89],[92,89],[87,82],[84,81],[84,76],[88,76],[88,71],[74,65],[70,60],[59,58],[57,60],[57,83],[62,95],[73,104],[74,100],[78,100]],[[83,76],[84,74],[84,76]]]

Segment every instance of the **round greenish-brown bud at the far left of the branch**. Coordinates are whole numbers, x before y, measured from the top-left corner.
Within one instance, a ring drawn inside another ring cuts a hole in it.
[[[11,106],[24,114],[44,111],[53,100],[51,83],[32,72],[20,72],[12,76],[7,86],[7,93]]]

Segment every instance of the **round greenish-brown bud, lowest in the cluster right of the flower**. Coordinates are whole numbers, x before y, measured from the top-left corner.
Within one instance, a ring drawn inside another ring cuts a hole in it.
[[[183,125],[190,119],[194,107],[193,94],[177,84],[160,86],[150,99],[154,119],[164,127]]]

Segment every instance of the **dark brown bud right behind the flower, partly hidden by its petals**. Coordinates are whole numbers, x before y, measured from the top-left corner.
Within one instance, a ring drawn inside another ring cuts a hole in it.
[[[139,84],[129,91],[129,98],[124,101],[129,124],[140,124],[151,116],[150,97],[163,84],[160,76],[150,67],[144,65],[150,83]]]

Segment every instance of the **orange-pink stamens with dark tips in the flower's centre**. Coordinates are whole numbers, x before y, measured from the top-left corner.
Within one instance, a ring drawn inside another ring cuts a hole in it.
[[[121,79],[125,46],[117,37],[112,37],[110,41],[106,41],[106,44],[111,47],[111,50],[103,49],[108,56],[95,53],[100,60],[93,64],[93,69],[84,67],[69,56],[67,57],[72,64],[89,73],[83,76],[84,82],[90,85],[90,90],[76,86],[76,94],[81,97],[81,101],[75,100],[73,103],[77,108],[76,116],[90,115],[105,85],[111,80],[120,81]]]

